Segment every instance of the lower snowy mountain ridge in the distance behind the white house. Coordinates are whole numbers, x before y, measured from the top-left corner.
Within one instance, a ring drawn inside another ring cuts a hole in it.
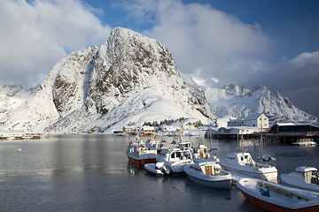
[[[206,99],[220,117],[245,118],[254,113],[264,113],[269,121],[316,122],[317,118],[296,108],[288,98],[267,87],[238,87],[234,84],[222,88],[207,87]]]

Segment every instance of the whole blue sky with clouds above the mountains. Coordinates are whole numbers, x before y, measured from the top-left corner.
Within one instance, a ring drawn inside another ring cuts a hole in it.
[[[0,85],[41,83],[58,60],[127,27],[167,46],[205,87],[265,86],[319,117],[319,1],[0,0]]]

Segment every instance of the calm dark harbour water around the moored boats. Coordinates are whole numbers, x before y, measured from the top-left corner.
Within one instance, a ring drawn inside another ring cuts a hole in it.
[[[211,145],[204,138],[186,139]],[[127,146],[128,137],[95,134],[1,141],[0,211],[262,211],[236,186],[212,189],[186,175],[157,177],[136,169],[128,163]],[[213,140],[212,146],[222,160],[237,140]],[[258,145],[248,149],[253,158],[260,151]],[[302,165],[319,168],[319,147],[277,144],[263,152],[276,157],[278,176]]]

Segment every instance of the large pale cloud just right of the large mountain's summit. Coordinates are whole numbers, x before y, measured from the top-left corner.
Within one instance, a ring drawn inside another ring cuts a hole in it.
[[[200,66],[205,79],[236,83],[260,72],[267,59],[271,40],[258,23],[245,24],[209,4],[175,0],[159,0],[154,12],[157,25],[143,34],[166,45],[182,72],[193,75]]]

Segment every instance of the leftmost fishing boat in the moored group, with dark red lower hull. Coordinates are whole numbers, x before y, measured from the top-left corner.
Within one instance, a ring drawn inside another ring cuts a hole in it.
[[[136,141],[131,140],[128,142],[126,155],[130,163],[144,165],[146,163],[156,163],[158,154],[156,149],[147,148],[143,140],[137,138]]]

